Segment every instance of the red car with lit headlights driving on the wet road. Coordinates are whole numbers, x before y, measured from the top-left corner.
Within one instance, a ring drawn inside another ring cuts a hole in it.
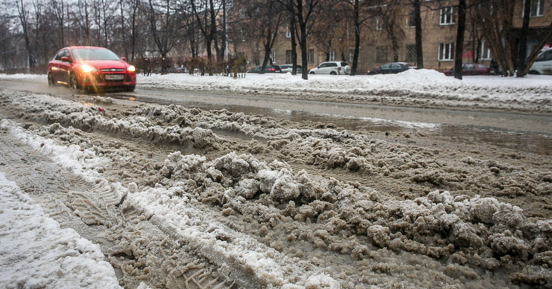
[[[131,92],[136,87],[136,68],[107,48],[70,46],[48,62],[48,84],[84,91],[122,88]]]

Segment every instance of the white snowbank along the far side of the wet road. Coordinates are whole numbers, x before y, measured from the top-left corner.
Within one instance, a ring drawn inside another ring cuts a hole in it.
[[[0,79],[46,82],[45,76],[26,74],[0,74]],[[138,76],[137,82],[140,88],[162,90],[417,107],[552,112],[552,77],[537,75],[524,78],[465,76],[460,81],[433,69],[410,69],[374,76],[309,75],[309,80],[305,81],[290,73],[248,73],[246,78],[237,79],[172,73]]]

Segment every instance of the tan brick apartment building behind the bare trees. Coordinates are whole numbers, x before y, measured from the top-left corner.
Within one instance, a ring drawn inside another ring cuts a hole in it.
[[[516,8],[512,19],[512,29],[510,39],[512,50],[517,49],[517,41],[522,26],[523,1],[516,0]],[[529,22],[530,31],[528,35],[528,50],[530,53],[533,46],[537,45],[542,35],[552,21],[552,0],[532,0],[531,19]],[[457,7],[456,0],[426,0],[423,1],[421,12],[422,18],[422,44],[423,58],[425,68],[448,69],[454,62],[454,45],[457,34]],[[473,9],[473,8],[472,8]],[[408,62],[416,65],[416,46],[415,46],[415,24],[412,12],[412,6],[403,4],[396,8],[392,14],[387,17],[397,17],[395,23],[399,27],[394,28],[397,39],[395,47],[399,61]],[[489,45],[482,38],[480,27],[477,27],[473,17],[475,13],[466,15],[466,31],[464,39],[464,62],[479,62],[489,64],[492,55]],[[368,69],[376,68],[384,63],[394,61],[394,50],[389,29],[385,29],[386,19],[381,19],[386,15],[380,15],[369,19],[362,26],[362,38],[360,41],[360,53],[358,62],[359,74],[365,73]],[[471,17],[471,18],[470,18]],[[354,50],[354,34],[351,25],[343,17],[342,25],[339,25],[333,35],[337,34],[337,39],[333,39],[328,47],[323,43],[324,36],[309,36],[307,44],[307,62],[309,69],[319,65],[324,61],[345,60],[352,62]],[[328,31],[331,33],[332,31]],[[291,63],[291,34],[289,26],[282,26],[274,47],[270,52],[269,63],[276,65]],[[335,38],[335,36],[334,36]],[[552,41],[551,41],[552,42]],[[323,45],[321,45],[323,43]],[[300,65],[300,50],[298,49],[298,63]],[[237,42],[233,50],[238,54],[245,54],[250,66],[261,65],[264,57],[264,50],[259,44],[253,41]],[[513,53],[516,55],[516,53]]]

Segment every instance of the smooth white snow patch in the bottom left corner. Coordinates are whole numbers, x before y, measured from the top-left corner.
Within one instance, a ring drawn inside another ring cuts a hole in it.
[[[0,286],[119,288],[98,245],[61,229],[0,173]]]

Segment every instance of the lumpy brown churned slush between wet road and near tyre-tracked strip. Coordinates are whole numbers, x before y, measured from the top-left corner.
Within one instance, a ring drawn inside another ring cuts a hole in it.
[[[330,267],[343,288],[552,287],[550,156],[78,100],[3,90],[0,112],[110,159],[89,168],[108,181],[133,192],[173,189],[172,201],[205,208],[263,248]]]

